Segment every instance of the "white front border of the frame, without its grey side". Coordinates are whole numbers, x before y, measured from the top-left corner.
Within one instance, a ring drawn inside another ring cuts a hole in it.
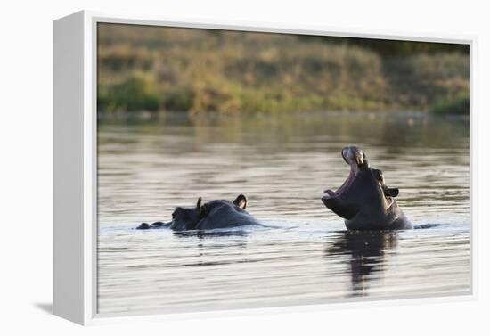
[[[78,12],[80,13],[80,12]],[[379,29],[335,29],[326,26],[306,26],[298,24],[279,24],[252,21],[227,20],[190,20],[146,15],[127,15],[109,12],[81,12],[84,17],[84,126],[83,126],[83,161],[84,161],[84,321],[83,324],[114,324],[134,323],[140,321],[182,320],[189,318],[208,318],[217,316],[255,316],[290,312],[308,312],[330,309],[419,305],[427,303],[442,303],[455,301],[476,300],[478,298],[477,270],[477,241],[478,223],[475,217],[474,183],[476,170],[476,127],[475,113],[475,65],[476,45],[475,36],[457,36],[451,34],[410,33],[396,30]],[[423,294],[415,296],[400,296],[390,298],[336,299],[329,302],[311,305],[287,307],[257,307],[236,308],[229,310],[213,310],[192,313],[159,314],[155,315],[121,315],[110,316],[97,313],[97,24],[119,23],[159,27],[194,28],[194,29],[226,29],[250,32],[301,34],[329,37],[359,37],[378,38],[400,41],[453,43],[470,45],[470,290],[453,294]]]

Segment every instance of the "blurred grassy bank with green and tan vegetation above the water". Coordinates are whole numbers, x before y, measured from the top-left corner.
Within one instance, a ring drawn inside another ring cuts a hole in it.
[[[466,45],[99,24],[98,108],[438,110],[469,95]]]

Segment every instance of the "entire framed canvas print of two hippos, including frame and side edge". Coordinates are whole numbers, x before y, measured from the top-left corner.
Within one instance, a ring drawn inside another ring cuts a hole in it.
[[[472,297],[473,45],[54,21],[54,314]]]

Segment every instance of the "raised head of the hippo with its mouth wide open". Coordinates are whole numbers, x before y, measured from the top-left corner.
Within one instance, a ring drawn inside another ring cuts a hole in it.
[[[355,218],[356,222],[382,222],[398,189],[388,188],[382,172],[370,168],[366,155],[359,148],[347,146],[341,154],[350,166],[349,176],[337,191],[324,192],[323,204],[347,221]]]

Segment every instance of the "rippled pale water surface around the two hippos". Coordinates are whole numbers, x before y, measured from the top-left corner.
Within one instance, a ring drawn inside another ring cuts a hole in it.
[[[409,113],[101,119],[98,309],[275,307],[470,291],[466,119]],[[357,144],[422,229],[347,232],[320,197]],[[176,206],[247,196],[274,227],[140,231]]]

